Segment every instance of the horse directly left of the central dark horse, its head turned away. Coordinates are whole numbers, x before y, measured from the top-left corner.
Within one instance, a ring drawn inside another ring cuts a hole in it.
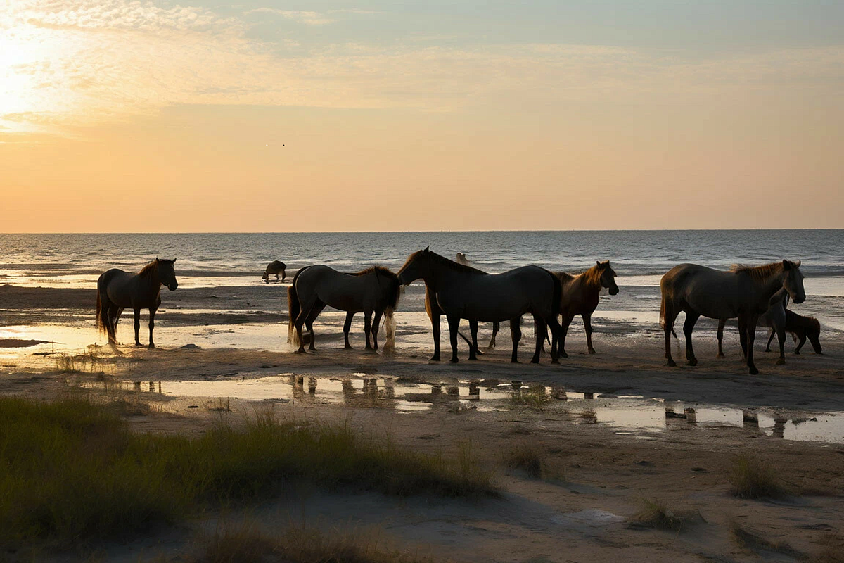
[[[378,326],[383,315],[387,326],[392,327],[392,313],[396,309],[400,285],[395,273],[387,268],[374,266],[358,273],[338,272],[328,266],[306,266],[301,268],[293,277],[293,283],[287,290],[290,311],[290,336],[294,336],[299,344],[297,352],[305,352],[302,340],[302,325],[306,325],[311,333],[311,343],[308,349],[316,350],[314,345],[313,322],[325,306],[332,306],[340,311],[346,311],[346,322],[343,326],[345,348],[349,344],[349,330],[354,313],[363,311],[364,332],[366,334],[366,349],[378,349]],[[375,313],[375,318],[372,314]],[[370,333],[372,344],[370,344]],[[387,343],[385,348],[392,348],[395,333],[392,328],[387,329]]]

